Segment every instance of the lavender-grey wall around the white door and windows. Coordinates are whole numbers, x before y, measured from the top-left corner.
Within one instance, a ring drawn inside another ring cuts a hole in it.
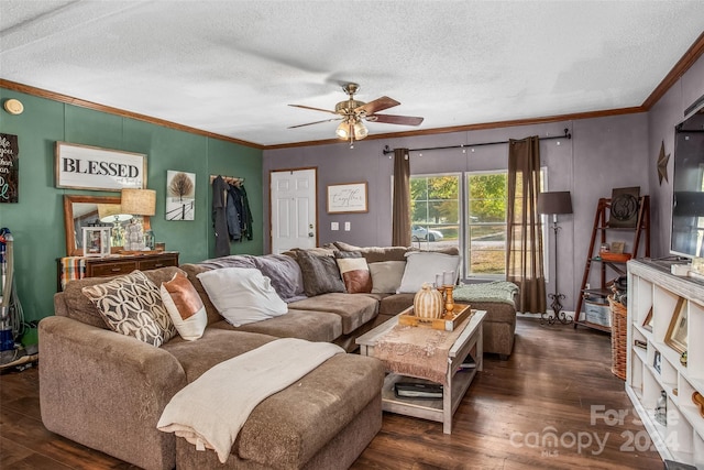
[[[264,151],[263,179],[268,181],[268,173],[273,170],[317,167],[319,244],[340,240],[358,245],[386,245],[391,243],[393,162],[383,154],[385,145],[392,149],[420,149],[494,142],[527,135],[561,135],[563,129],[568,128],[572,133],[571,140],[542,141],[540,152],[542,164],[548,167],[548,190],[572,193],[574,214],[559,218],[562,229],[558,237],[558,287],[566,295],[564,308],[573,310],[584,273],[596,204],[601,197],[610,197],[613,188],[639,186],[641,195],[651,196],[651,255],[668,254],[672,187],[671,183],[664,181],[662,185],[658,184],[657,157],[661,141],[664,141],[667,153],[673,152],[674,125],[682,120],[684,109],[702,95],[704,58],[700,58],[648,113],[362,141],[355,143],[354,149],[339,143],[268,150]],[[385,131],[383,124],[372,125],[371,132]],[[481,146],[473,152],[468,149],[466,153],[461,150],[431,151],[422,156],[413,152],[410,167],[414,174],[504,170],[507,152],[506,145]],[[671,175],[672,160],[668,170]],[[363,181],[369,182],[369,214],[326,214],[327,185]],[[267,192],[268,188],[265,188],[264,200],[268,200]],[[267,221],[268,205],[264,205],[264,220]],[[350,221],[352,229],[331,231],[332,221],[340,222],[341,228],[343,222]],[[630,234],[623,238],[628,250]],[[546,242],[550,247],[548,292],[552,292],[556,269],[552,230],[546,233]],[[265,251],[268,250],[267,239]],[[596,285],[598,273],[592,271],[590,282]],[[613,272],[609,275],[615,276]]]

